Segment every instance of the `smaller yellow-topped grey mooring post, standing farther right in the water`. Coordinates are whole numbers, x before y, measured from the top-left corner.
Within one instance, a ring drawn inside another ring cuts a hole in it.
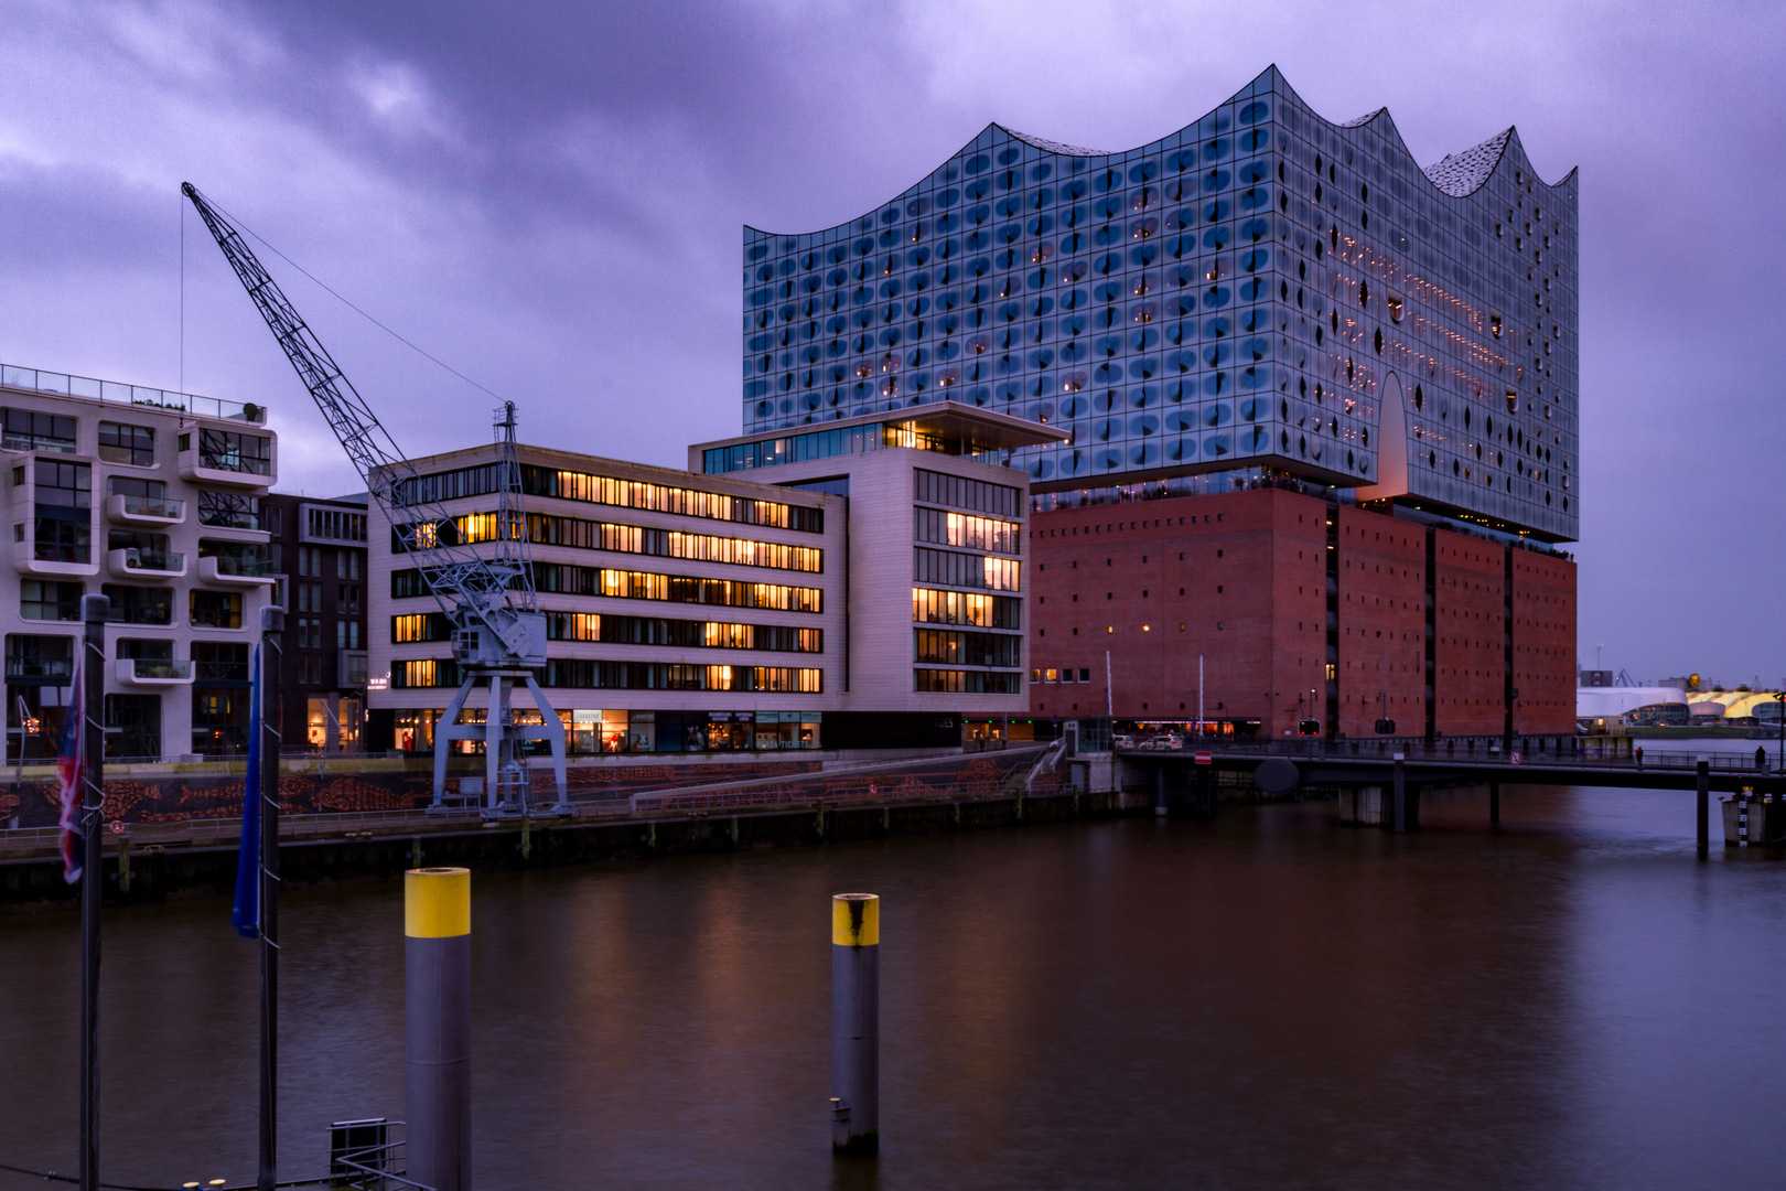
[[[830,898],[830,1152],[880,1150],[880,898]]]

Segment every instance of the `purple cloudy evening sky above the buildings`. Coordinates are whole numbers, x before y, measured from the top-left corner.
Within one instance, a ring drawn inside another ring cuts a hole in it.
[[[0,7],[0,361],[259,400],[282,487],[357,487],[193,180],[522,404],[680,464],[739,427],[739,225],[847,220],[988,121],[1168,134],[1277,62],[1422,162],[1516,123],[1582,171],[1581,657],[1786,677],[1777,4],[109,4]],[[491,398],[268,261],[411,452]]]

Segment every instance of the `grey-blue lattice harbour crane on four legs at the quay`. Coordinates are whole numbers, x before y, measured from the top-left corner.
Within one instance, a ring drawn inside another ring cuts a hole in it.
[[[454,661],[464,677],[434,727],[434,805],[445,805],[446,754],[452,741],[482,737],[489,811],[525,812],[527,771],[518,759],[518,745],[543,739],[552,746],[552,771],[557,779],[554,811],[568,812],[564,725],[534,679],[534,671],[547,664],[547,618],[534,595],[534,570],[527,552],[522,468],[514,446],[514,402],[504,402],[497,411],[500,450],[495,520],[472,518],[461,525],[429,480],[418,475],[414,464],[396,448],[391,434],[261,266],[236,227],[205,202],[191,182],[180,186],[180,191],[211,229],[223,257],[279,339],[286,359],[296,368],[304,387],[316,398],[329,429],[366,480],[366,491],[391,523],[396,543],[414,561],[429,595],[452,627]],[[475,550],[473,543],[489,546]],[[489,711],[484,723],[455,723],[466,696],[486,682]],[[543,723],[514,721],[509,695],[516,682],[527,684]]]

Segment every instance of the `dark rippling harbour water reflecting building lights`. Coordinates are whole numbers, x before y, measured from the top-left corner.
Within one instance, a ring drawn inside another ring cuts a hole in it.
[[[1693,796],[1429,795],[475,879],[491,1187],[1766,1186],[1786,866]],[[1713,829],[1716,839],[1716,827]],[[882,1155],[829,1152],[829,896],[882,911]],[[400,889],[284,900],[284,1170],[402,1116]],[[71,1170],[77,925],[0,920],[0,1162]],[[254,948],[111,912],[105,1179],[252,1180]],[[27,1180],[0,1175],[0,1187]]]

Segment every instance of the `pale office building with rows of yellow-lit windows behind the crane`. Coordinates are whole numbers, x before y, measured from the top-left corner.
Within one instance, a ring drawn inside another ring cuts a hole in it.
[[[970,423],[707,443],[689,471],[520,446],[539,686],[572,755],[938,745],[972,714],[1022,714],[1029,493],[984,454],[1038,436]],[[463,541],[493,532],[497,452],[413,461]],[[425,750],[461,675],[423,577],[370,516],[368,739]],[[916,661],[914,627],[936,637]],[[486,707],[479,689],[464,714]]]

